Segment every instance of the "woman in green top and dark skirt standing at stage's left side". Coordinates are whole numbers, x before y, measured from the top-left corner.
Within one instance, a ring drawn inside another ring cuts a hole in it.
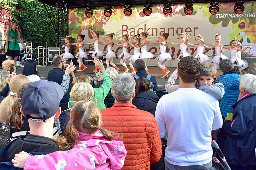
[[[16,22],[11,22],[11,28],[7,31],[6,34],[6,42],[5,42],[5,51],[9,56],[9,60],[13,60],[16,63],[18,56],[20,56],[20,47],[17,40],[25,47],[25,44],[22,42],[20,38],[20,33],[16,30],[17,24]]]

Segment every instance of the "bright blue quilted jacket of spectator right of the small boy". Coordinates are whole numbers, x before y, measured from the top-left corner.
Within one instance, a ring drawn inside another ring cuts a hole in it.
[[[237,102],[237,98],[240,94],[238,85],[240,77],[241,75],[233,70],[224,73],[219,79],[225,87],[225,94],[220,101],[220,111],[224,118],[227,117],[227,113],[233,112],[231,106]]]

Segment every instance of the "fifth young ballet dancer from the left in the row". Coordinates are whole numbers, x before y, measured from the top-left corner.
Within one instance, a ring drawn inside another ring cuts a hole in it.
[[[124,73],[129,73],[129,69],[127,68],[127,65],[125,63],[126,59],[131,56],[131,54],[128,52],[128,35],[125,34],[122,36],[123,43],[115,43],[116,45],[122,46],[122,53],[118,55],[118,58],[121,58],[120,64],[124,67],[125,71]]]

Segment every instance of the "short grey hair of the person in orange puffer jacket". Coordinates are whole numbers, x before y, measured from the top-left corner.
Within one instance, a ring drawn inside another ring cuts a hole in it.
[[[135,91],[135,80],[131,74],[118,74],[112,80],[111,88],[116,102],[127,103],[132,99]]]

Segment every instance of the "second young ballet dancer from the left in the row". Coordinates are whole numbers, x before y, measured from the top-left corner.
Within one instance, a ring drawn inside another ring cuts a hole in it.
[[[78,64],[79,64],[79,70],[76,70],[76,72],[81,72],[84,71],[84,69],[86,69],[87,67],[84,65],[84,63],[82,62],[82,58],[86,58],[87,55],[84,52],[84,35],[79,35],[77,38],[79,43],[72,43],[70,45],[76,45],[79,49],[79,52],[75,55],[75,57],[77,58]],[[83,70],[82,70],[82,66],[83,66]]]

